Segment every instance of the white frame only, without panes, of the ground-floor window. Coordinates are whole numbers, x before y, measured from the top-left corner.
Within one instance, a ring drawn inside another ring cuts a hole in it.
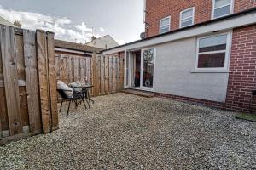
[[[227,35],[227,45],[225,50],[218,50],[214,52],[202,52],[199,53],[199,42],[201,39],[208,38],[208,37],[218,37],[222,35]],[[222,72],[222,71],[229,71],[230,65],[230,51],[231,51],[231,41],[232,41],[232,32],[223,32],[218,34],[213,34],[210,36],[198,37],[197,38],[197,45],[196,45],[196,57],[195,57],[195,71],[202,71],[202,72]],[[214,54],[214,53],[223,53],[225,52],[225,61],[224,67],[209,67],[209,68],[198,68],[198,58],[199,54]]]

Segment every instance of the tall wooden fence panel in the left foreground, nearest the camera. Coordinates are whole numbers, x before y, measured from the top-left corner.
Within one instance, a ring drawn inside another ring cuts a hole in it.
[[[57,129],[54,34],[0,25],[0,41],[0,145]]]

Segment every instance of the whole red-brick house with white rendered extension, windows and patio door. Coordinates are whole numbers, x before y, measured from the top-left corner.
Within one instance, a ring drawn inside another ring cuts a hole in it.
[[[256,1],[146,0],[144,10],[146,38],[102,52],[124,56],[125,88],[233,111],[255,107]]]

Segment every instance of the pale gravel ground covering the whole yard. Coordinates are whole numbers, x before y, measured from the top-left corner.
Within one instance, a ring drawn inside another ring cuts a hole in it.
[[[63,110],[54,133],[0,147],[0,169],[256,169],[256,123],[233,112],[121,93],[95,100]]]

